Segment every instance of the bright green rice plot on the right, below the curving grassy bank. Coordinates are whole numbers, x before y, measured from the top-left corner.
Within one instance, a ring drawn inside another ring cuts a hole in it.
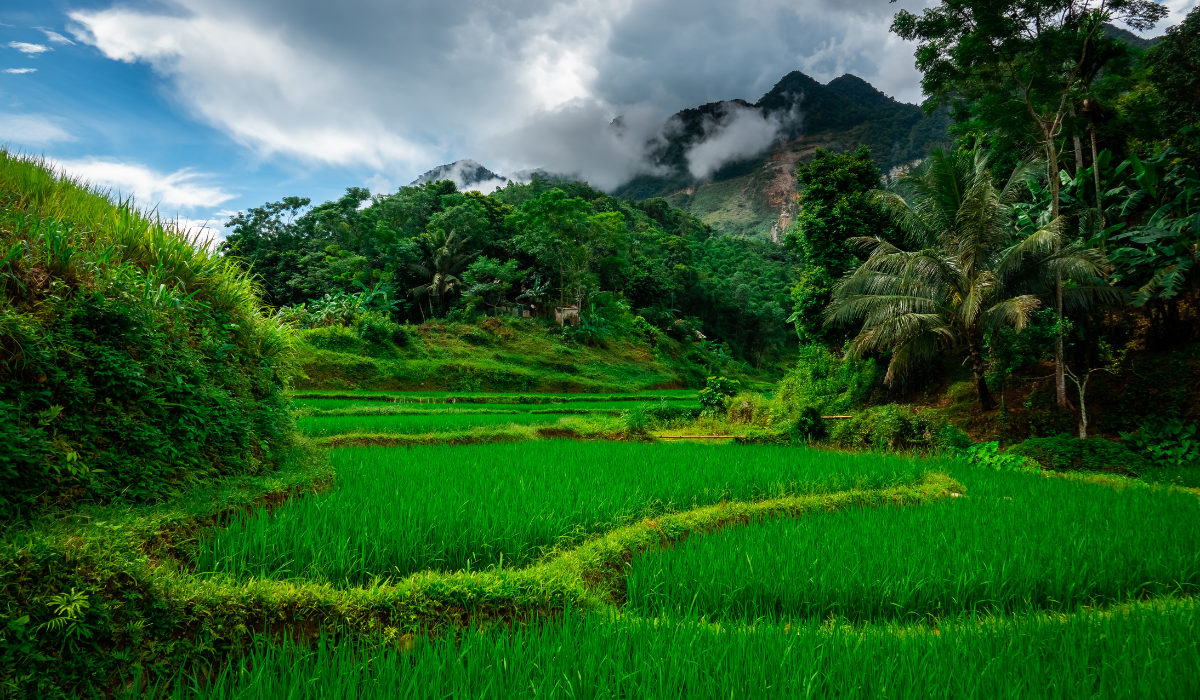
[[[635,560],[629,606],[854,622],[1070,611],[1200,592],[1200,501],[964,468],[962,498],[761,522]]]

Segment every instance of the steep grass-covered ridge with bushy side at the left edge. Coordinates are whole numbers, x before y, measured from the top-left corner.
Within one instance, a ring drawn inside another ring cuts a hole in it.
[[[290,331],[248,274],[0,149],[0,520],[271,463]]]

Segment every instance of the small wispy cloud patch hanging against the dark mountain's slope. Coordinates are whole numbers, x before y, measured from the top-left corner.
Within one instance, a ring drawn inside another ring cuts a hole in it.
[[[775,114],[763,115],[752,107],[725,102],[718,116],[704,119],[704,137],[684,155],[688,172],[704,179],[726,163],[762,154],[779,140],[784,121]]]

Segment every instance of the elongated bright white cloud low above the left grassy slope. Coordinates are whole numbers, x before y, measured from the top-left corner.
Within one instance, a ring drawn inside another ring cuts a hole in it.
[[[236,197],[206,184],[206,175],[184,168],[161,173],[140,163],[103,158],[56,161],[68,175],[109,189],[114,195],[133,197],[140,207],[155,208],[166,216],[172,210],[218,207]]]

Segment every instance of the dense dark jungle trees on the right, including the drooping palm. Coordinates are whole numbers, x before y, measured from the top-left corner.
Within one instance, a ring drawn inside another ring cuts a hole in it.
[[[864,402],[929,405],[964,363],[978,405],[956,418],[984,436],[1116,437],[1147,420],[1194,432],[1200,10],[1144,46],[1110,24],[1146,29],[1164,12],[1003,0],[899,12],[926,110],[950,109],[956,143],[887,189],[864,150],[800,166],[790,319],[814,349],[798,376],[845,354],[887,370],[868,372]],[[1139,449],[1184,449],[1174,444]]]

